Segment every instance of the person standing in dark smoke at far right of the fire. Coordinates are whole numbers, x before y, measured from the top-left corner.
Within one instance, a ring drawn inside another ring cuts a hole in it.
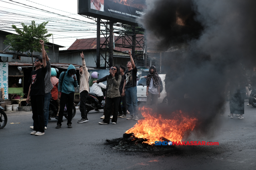
[[[239,115],[238,119],[243,119],[247,78],[242,74],[241,68],[236,71],[235,77],[230,82],[230,119],[233,119],[234,114]]]

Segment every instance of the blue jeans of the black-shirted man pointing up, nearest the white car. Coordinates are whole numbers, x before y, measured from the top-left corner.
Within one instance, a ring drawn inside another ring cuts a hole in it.
[[[130,115],[138,116],[137,113],[137,87],[126,88],[125,90],[126,103]]]

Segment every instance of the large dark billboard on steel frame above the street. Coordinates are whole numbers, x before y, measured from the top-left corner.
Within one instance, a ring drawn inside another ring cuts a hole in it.
[[[146,0],[78,0],[80,15],[130,25],[135,25],[137,18],[143,18],[145,8]]]

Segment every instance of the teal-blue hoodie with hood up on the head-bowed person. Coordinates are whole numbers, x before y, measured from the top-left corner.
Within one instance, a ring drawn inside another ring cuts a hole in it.
[[[72,64],[68,66],[68,70],[76,69]],[[75,88],[77,87],[77,80],[74,80],[70,75],[68,75],[68,70],[66,71],[65,75],[64,72],[60,73],[59,77],[59,84],[58,84],[58,92],[63,92],[66,94],[70,94],[75,92]],[[64,78],[63,78],[64,76]]]

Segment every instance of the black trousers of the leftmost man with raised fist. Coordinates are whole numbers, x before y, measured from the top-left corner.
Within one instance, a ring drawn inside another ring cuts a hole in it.
[[[44,132],[44,95],[30,96],[34,131]]]

